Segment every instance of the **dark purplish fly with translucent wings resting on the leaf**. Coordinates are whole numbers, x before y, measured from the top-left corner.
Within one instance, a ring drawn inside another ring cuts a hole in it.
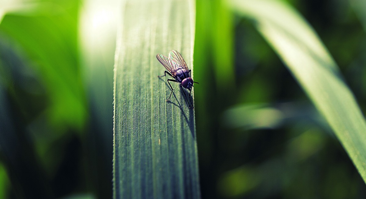
[[[191,91],[192,91],[194,81],[191,78],[191,70],[188,70],[186,61],[184,61],[182,55],[180,55],[180,53],[176,50],[171,50],[169,52],[168,57],[166,57],[162,54],[157,54],[156,58],[167,69],[164,72],[164,75],[159,75],[158,77],[160,78],[160,77],[166,76],[168,74],[169,76],[174,78],[174,79],[168,79],[167,80],[170,88],[172,89],[167,101],[172,96],[172,93],[173,93],[173,90],[174,90],[172,85],[170,85],[169,82],[177,82],[177,83],[180,83],[179,86],[182,89],[182,91],[184,93],[184,96],[186,96],[188,107],[191,108],[191,106],[189,104],[189,102],[191,102],[191,105],[192,105],[192,108],[193,108],[193,103],[191,101]],[[198,82],[194,82],[194,83],[198,83]],[[189,95],[188,95],[189,101],[188,101],[187,95],[184,92],[183,88],[189,90]]]

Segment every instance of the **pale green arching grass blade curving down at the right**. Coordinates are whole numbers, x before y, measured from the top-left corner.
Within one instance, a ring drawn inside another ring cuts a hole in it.
[[[280,1],[229,2],[233,9],[254,20],[259,32],[324,115],[366,181],[365,119],[337,65],[311,27]]]

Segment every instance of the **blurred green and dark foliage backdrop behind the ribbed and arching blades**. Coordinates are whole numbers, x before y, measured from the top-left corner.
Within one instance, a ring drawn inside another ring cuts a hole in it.
[[[363,1],[285,2],[313,26],[365,112]],[[196,4],[202,198],[366,198],[343,147],[252,21],[225,1]],[[112,197],[116,5],[0,3],[0,198]]]

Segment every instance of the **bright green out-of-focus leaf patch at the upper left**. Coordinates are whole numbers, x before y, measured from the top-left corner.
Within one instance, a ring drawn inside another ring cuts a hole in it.
[[[82,129],[87,110],[77,57],[79,5],[77,1],[63,1],[59,7],[67,9],[60,12],[57,4],[55,7],[53,15],[42,15],[41,11],[30,16],[7,15],[0,32],[18,42],[36,62],[32,67],[40,72],[50,95],[50,108],[45,113],[50,123],[60,131],[68,126]]]

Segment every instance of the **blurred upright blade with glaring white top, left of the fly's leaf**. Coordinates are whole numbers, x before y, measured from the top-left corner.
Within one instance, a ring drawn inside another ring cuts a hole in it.
[[[117,0],[85,0],[81,12],[82,74],[89,102],[88,172],[96,198],[112,198],[113,63],[116,49]]]

